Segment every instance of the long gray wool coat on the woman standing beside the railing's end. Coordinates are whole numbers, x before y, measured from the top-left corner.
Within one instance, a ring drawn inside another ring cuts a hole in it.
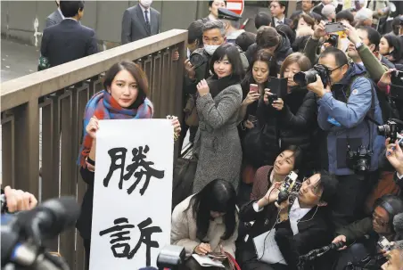
[[[238,188],[243,152],[238,135],[238,113],[243,101],[241,85],[228,86],[214,99],[198,97],[199,130],[194,140],[198,154],[193,193],[214,179],[224,179]]]

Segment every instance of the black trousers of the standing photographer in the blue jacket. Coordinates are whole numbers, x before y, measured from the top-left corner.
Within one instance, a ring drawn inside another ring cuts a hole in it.
[[[378,181],[378,171],[365,176],[336,176],[337,192],[330,203],[333,223],[337,227],[349,225],[358,219],[366,217],[364,213],[366,197]]]

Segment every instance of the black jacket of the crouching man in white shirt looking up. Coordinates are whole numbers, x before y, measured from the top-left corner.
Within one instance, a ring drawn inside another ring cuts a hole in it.
[[[253,209],[253,200],[244,205],[239,212],[239,219],[243,222],[255,221],[248,232],[247,240],[242,241],[237,247],[236,260],[240,262],[241,268],[248,264],[248,261],[257,258],[253,238],[266,233],[276,223],[278,210],[274,204],[270,204],[259,213]],[[316,213],[315,213],[316,212]],[[298,223],[298,231],[293,235],[290,219],[275,226],[275,239],[279,249],[282,251],[288,269],[296,269],[300,255],[310,250],[321,248],[332,241],[332,233],[326,223],[326,208],[319,207],[310,209],[305,217]],[[319,237],[318,237],[319,236]]]

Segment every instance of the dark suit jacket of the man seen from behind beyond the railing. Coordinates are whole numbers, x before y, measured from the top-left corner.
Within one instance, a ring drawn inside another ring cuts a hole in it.
[[[65,19],[44,30],[41,54],[51,67],[98,53],[95,31]]]

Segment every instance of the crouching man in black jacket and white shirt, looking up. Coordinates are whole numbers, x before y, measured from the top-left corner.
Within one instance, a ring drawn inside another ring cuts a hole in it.
[[[324,171],[302,183],[292,204],[287,198],[279,200],[281,183],[274,183],[263,198],[244,205],[240,220],[254,223],[237,247],[241,268],[293,270],[300,255],[324,246],[332,237],[325,206],[332,200],[336,184]]]

